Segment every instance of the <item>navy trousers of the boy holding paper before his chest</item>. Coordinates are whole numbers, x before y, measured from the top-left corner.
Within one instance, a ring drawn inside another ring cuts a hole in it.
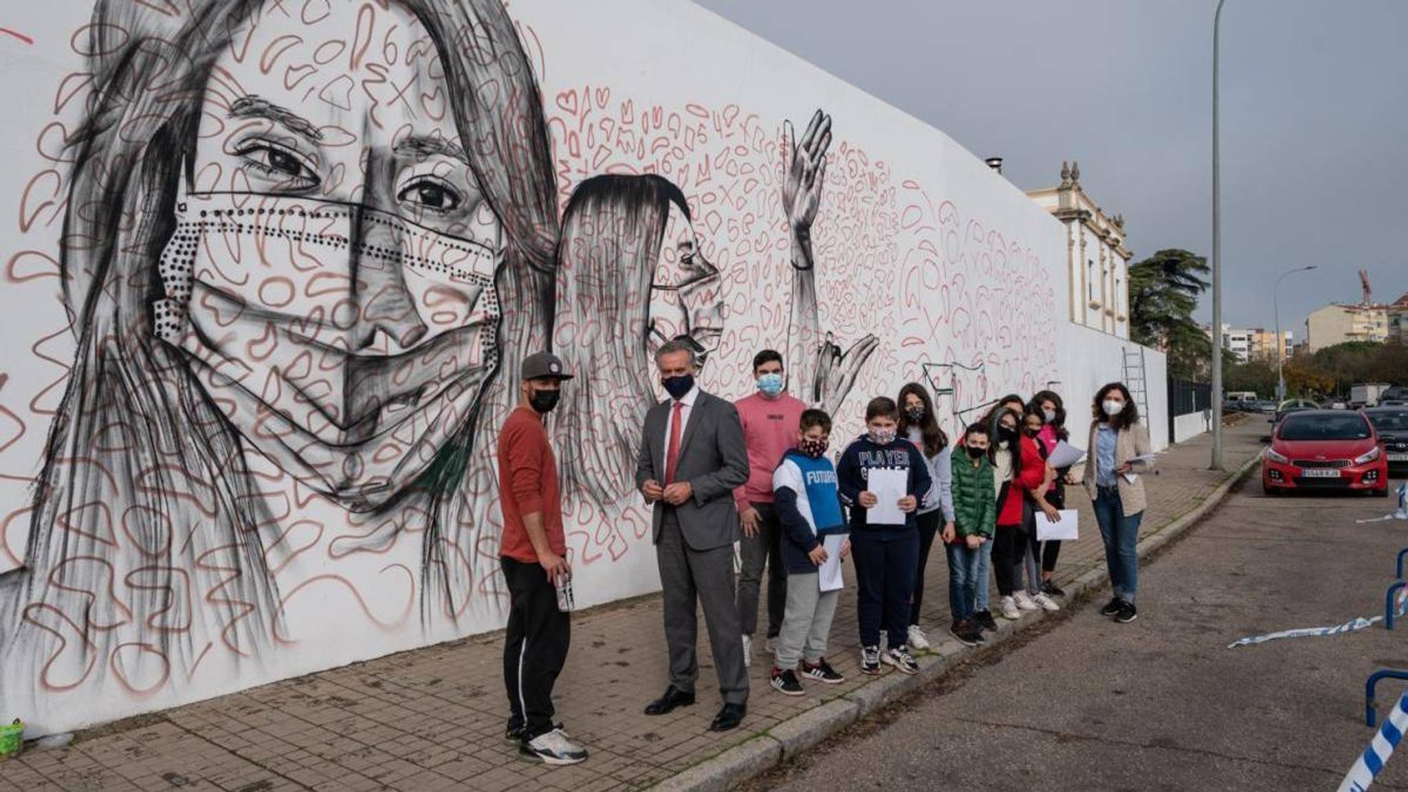
[[[883,536],[881,536],[883,534]],[[880,627],[891,647],[903,645],[910,634],[910,596],[914,567],[919,555],[919,531],[860,528],[850,531],[850,555],[856,559],[856,610],[860,645],[880,645]]]

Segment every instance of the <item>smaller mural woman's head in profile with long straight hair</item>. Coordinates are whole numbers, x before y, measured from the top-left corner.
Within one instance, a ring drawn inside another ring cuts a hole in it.
[[[634,493],[653,355],[683,340],[707,358],[722,334],[719,275],[684,193],[655,175],[604,175],[573,192],[558,248],[553,349],[583,372],[559,407],[566,489],[598,505]]]

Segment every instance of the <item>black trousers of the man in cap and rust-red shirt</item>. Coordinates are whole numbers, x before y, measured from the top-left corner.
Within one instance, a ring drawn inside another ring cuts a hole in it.
[[[552,686],[567,660],[570,614],[558,610],[558,589],[538,564],[500,558],[508,583],[504,689],[513,724],[531,740],[552,731]]]

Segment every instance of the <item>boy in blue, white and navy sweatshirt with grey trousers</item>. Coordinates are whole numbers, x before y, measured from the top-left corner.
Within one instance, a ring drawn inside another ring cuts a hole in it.
[[[826,459],[831,440],[831,416],[805,410],[798,427],[797,448],[783,455],[773,472],[773,507],[783,527],[781,557],[787,568],[787,607],[777,636],[777,660],[773,665],[773,689],[788,695],[805,693],[801,675],[817,682],[845,682],[826,662],[826,636],[836,614],[841,590],[821,590],[818,567],[826,562],[828,536],[846,534],[836,492],[836,468]],[[850,552],[843,540],[841,557]]]

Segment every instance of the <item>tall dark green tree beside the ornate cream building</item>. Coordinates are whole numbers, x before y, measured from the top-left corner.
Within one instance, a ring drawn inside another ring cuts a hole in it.
[[[1169,376],[1204,379],[1212,341],[1193,310],[1205,292],[1208,261],[1178,248],[1166,248],[1129,268],[1129,335],[1169,354]]]

